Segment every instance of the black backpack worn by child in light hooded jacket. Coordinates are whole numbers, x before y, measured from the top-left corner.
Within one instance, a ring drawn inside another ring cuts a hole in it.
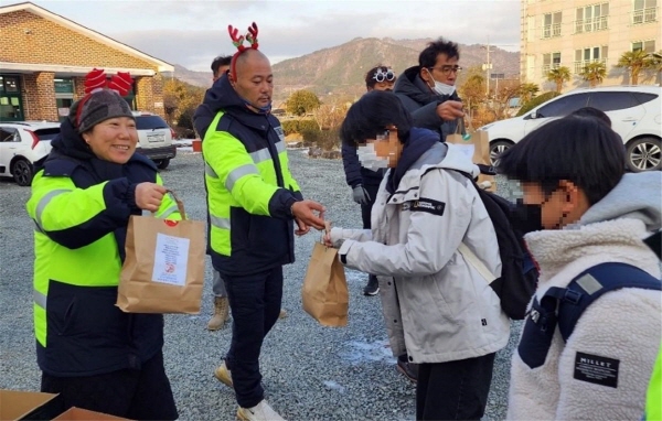
[[[501,277],[494,279],[495,277],[489,273],[484,265],[478,261],[476,255],[463,244],[460,245],[458,251],[481,272],[481,276],[494,279],[490,282],[490,287],[499,295],[503,312],[512,320],[524,320],[526,306],[537,285],[538,272],[526,250],[522,235],[513,230],[511,226],[509,215],[513,204],[494,193],[480,188],[471,175],[465,172],[460,173],[467,176],[478,191],[478,195],[492,219],[492,225],[494,225],[501,257]]]

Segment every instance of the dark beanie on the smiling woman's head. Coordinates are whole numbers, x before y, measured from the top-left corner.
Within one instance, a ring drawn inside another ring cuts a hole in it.
[[[83,107],[78,110],[79,107]],[[70,119],[78,133],[83,133],[102,121],[115,117],[129,117],[134,114],[129,104],[115,90],[102,89],[83,97],[70,110]]]

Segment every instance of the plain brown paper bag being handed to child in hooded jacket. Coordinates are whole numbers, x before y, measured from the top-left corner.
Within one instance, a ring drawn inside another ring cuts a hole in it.
[[[324,326],[346,326],[350,294],[338,249],[316,242],[301,288],[303,310]]]

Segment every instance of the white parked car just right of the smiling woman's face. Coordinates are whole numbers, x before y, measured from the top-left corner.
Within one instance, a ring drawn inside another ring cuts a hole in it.
[[[172,144],[174,131],[159,115],[145,111],[134,111],[138,129],[138,147],[136,152],[154,161],[160,170],[170,164],[177,155],[177,147]]]

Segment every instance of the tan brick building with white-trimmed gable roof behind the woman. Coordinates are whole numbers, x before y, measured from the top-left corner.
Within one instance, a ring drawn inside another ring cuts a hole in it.
[[[129,72],[131,107],[164,117],[172,65],[33,3],[0,7],[0,121],[62,120],[94,67]]]

